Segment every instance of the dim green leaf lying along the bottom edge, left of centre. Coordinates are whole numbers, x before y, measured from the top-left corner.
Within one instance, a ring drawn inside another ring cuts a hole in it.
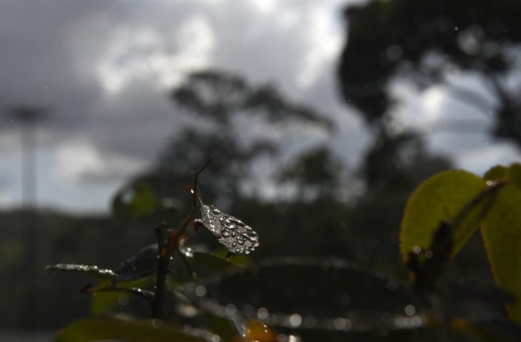
[[[156,323],[154,323],[156,322]],[[117,339],[128,342],[203,342],[204,338],[190,336],[160,321],[122,321],[87,318],[66,326],[56,336],[56,342],[90,342]]]

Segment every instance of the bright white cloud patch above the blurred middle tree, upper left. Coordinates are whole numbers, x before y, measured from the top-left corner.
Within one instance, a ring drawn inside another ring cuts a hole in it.
[[[180,83],[186,73],[208,66],[215,37],[208,21],[192,16],[176,28],[176,36],[151,27],[118,28],[96,66],[101,85],[116,95],[133,81],[151,81],[161,89]]]

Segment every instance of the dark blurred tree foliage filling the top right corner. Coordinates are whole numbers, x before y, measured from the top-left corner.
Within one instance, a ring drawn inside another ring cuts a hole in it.
[[[420,90],[444,86],[457,100],[492,114],[496,137],[520,146],[521,83],[509,79],[519,68],[520,16],[517,0],[377,0],[350,6],[338,73],[343,98],[373,127],[389,128],[393,79]],[[457,71],[479,76],[497,105],[451,80]],[[454,119],[446,126],[456,132],[471,125]]]

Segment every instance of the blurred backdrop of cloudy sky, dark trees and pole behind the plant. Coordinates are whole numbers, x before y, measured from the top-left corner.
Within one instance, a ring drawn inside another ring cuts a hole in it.
[[[85,279],[45,265],[153,243],[208,157],[203,199],[256,229],[254,259],[406,279],[414,187],[520,160],[519,18],[515,0],[0,0],[0,329],[88,314]],[[450,267],[490,281],[478,235]]]

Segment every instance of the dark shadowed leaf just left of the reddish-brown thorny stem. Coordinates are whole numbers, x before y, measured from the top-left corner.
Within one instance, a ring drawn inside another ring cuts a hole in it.
[[[157,270],[157,256],[157,244],[144,247],[135,255],[123,261],[116,269],[116,273],[119,275],[118,281],[133,281],[153,274]]]

